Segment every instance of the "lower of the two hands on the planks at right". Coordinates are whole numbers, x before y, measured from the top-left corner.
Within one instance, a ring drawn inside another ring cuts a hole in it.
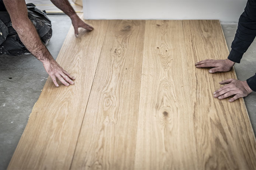
[[[228,100],[229,102],[233,102],[240,97],[246,97],[252,93],[252,89],[250,89],[246,81],[228,79],[219,82],[219,84],[226,84],[213,93],[213,97],[218,97],[219,100],[235,95]]]

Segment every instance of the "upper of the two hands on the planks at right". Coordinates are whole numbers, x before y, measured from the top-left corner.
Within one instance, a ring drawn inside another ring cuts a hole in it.
[[[227,59],[205,59],[197,62],[195,65],[197,68],[213,67],[209,70],[209,73],[215,72],[228,72],[231,70],[235,62]]]

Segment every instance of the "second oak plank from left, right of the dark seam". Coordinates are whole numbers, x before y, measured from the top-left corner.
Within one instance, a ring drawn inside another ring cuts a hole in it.
[[[110,21],[71,169],[133,169],[145,21]]]

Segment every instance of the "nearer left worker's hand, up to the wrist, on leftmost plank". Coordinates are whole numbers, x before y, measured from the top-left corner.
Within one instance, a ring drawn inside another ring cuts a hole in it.
[[[69,84],[74,84],[72,80],[75,80],[75,77],[71,76],[68,72],[66,72],[54,59],[43,62],[43,65],[46,72],[52,77],[52,81],[56,87],[59,87],[59,84],[56,81],[56,77],[65,86],[69,86]]]

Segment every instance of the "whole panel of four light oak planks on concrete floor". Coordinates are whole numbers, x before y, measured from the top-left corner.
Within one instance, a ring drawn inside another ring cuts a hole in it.
[[[46,81],[8,169],[256,169],[243,99],[213,98],[230,72],[219,21],[88,21],[57,61],[75,85]]]

